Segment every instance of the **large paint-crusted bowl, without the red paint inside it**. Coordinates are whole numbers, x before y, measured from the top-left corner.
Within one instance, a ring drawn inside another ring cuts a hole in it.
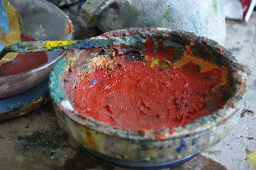
[[[72,89],[63,88],[67,83],[76,83],[79,75],[72,76],[72,73],[86,70],[85,66],[90,66],[93,58],[97,58],[90,55],[91,52],[98,49],[68,52],[65,58],[58,61],[50,76],[49,88],[54,109],[61,127],[95,157],[115,166],[146,169],[175,166],[218,143],[236,123],[246,92],[245,74],[234,56],[218,43],[192,33],[161,28],[122,29],[96,38],[119,38],[127,44],[134,38],[141,42],[153,38],[168,42],[166,44],[175,47],[177,55],[183,54],[184,47],[191,47],[191,53],[196,58],[225,66],[225,76],[231,86],[223,91],[223,106],[184,127],[147,132],[119,130],[88,116],[81,116],[73,107],[73,98],[68,95]],[[141,45],[139,49],[143,48]],[[77,65],[75,70],[71,68],[74,65]]]

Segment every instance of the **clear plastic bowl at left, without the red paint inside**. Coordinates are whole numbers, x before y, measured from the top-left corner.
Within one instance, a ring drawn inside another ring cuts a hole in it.
[[[17,8],[22,22],[22,33],[36,40],[72,40],[72,23],[58,7],[45,0],[10,0]],[[28,72],[0,77],[0,98],[21,93],[44,81],[63,52],[47,52],[48,63]]]

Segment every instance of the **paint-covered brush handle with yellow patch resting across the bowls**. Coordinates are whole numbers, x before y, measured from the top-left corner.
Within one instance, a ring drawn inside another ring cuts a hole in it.
[[[71,50],[71,49],[89,49],[92,47],[109,47],[124,43],[120,40],[109,39],[88,39],[88,40],[68,40],[68,41],[36,41],[19,42],[4,47],[0,52],[2,59],[8,52],[41,52],[50,50]]]

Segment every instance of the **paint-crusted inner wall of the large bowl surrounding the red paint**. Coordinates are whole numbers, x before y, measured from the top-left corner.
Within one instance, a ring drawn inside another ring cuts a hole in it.
[[[207,116],[207,118],[202,118],[200,121],[196,121],[194,127],[204,125],[207,122],[216,123],[215,121],[219,121],[216,119],[217,113],[217,117],[220,118],[233,114],[234,109],[236,109],[234,107],[238,106],[237,102],[243,98],[243,69],[240,65],[234,62],[234,57],[216,42],[194,36],[193,34],[184,31],[164,31],[162,29],[153,28],[111,31],[98,38],[122,39],[125,40],[126,44],[121,45],[118,49],[72,50],[67,53],[65,65],[63,66],[64,72],[61,73],[60,84],[61,91],[70,104],[74,104],[72,91],[74,91],[76,83],[84,72],[93,71],[93,66],[98,65],[97,61],[99,61],[99,58],[103,58],[103,61],[109,61],[114,52],[115,54],[118,53],[124,55],[125,58],[130,59],[131,61],[132,59],[134,59],[134,61],[143,60],[143,56],[141,57],[141,55],[137,54],[143,54],[148,50],[145,47],[147,40],[153,41],[153,49],[150,50],[168,52],[168,49],[171,48],[173,55],[175,56],[175,58],[171,60],[171,63],[177,67],[182,67],[191,62],[198,66],[198,73],[207,72],[207,70],[209,71],[215,68],[220,70],[220,83],[217,86],[214,86],[205,97],[205,100],[207,100],[205,107],[209,109],[212,114]],[[141,43],[135,46],[129,45],[132,40],[138,40]],[[132,59],[131,56],[133,57]],[[212,81],[214,81],[216,77],[207,77],[207,79],[212,79]],[[73,109],[72,113],[79,114],[76,107]],[[88,116],[82,115],[82,117],[83,118],[81,118],[81,116],[76,117],[74,120],[79,121],[80,123],[83,122],[83,124],[86,124],[86,121],[90,121],[97,125],[109,127],[100,121],[88,118]],[[90,127],[92,124],[88,123],[88,126]],[[191,126],[188,126],[188,128],[191,128]],[[170,132],[170,129],[166,132]]]

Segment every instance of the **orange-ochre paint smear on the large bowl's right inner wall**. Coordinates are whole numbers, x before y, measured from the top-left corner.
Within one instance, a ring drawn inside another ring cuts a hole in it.
[[[184,51],[184,54],[182,56],[182,58],[179,61],[176,61],[174,63],[175,67],[180,68],[184,65],[186,65],[187,63],[192,62],[195,63],[196,65],[199,65],[201,68],[200,72],[209,72],[214,68],[218,68],[221,70],[221,81],[220,84],[218,84],[219,86],[223,86],[227,83],[227,77],[226,75],[228,74],[228,70],[227,68],[225,68],[225,66],[217,66],[215,63],[211,63],[209,61],[205,61],[202,58],[197,58],[192,50],[191,50],[191,46],[186,46],[186,50]]]

